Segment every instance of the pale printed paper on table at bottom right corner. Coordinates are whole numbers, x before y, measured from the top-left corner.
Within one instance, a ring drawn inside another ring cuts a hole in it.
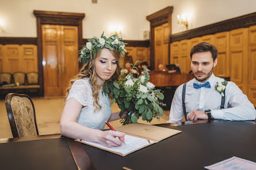
[[[231,157],[219,163],[204,167],[210,170],[251,170],[256,169],[256,163],[239,157]]]

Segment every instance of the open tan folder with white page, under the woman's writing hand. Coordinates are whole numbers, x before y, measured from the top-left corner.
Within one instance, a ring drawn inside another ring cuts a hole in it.
[[[162,128],[154,125],[146,124],[129,124],[115,129],[116,131],[125,133],[125,144],[119,147],[104,147],[99,143],[91,141],[75,140],[80,143],[91,145],[99,149],[103,149],[108,152],[115,153],[117,155],[126,156],[130,153],[138,151],[154,143],[166,139],[167,137],[176,135],[181,131],[175,129]]]

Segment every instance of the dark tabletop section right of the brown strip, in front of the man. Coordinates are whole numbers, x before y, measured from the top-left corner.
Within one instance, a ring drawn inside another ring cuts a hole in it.
[[[83,145],[96,169],[204,169],[232,156],[256,162],[256,126],[215,121],[169,126],[181,133],[125,157]]]

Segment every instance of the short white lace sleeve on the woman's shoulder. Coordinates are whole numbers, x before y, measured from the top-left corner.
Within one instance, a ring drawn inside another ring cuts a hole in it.
[[[76,80],[69,90],[67,100],[71,97],[74,97],[80,104],[87,106],[87,102],[90,96],[90,84],[87,84],[84,80]]]

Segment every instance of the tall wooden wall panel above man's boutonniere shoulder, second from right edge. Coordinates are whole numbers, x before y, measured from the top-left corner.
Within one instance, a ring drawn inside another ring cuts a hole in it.
[[[230,31],[231,81],[247,93],[247,28]]]

